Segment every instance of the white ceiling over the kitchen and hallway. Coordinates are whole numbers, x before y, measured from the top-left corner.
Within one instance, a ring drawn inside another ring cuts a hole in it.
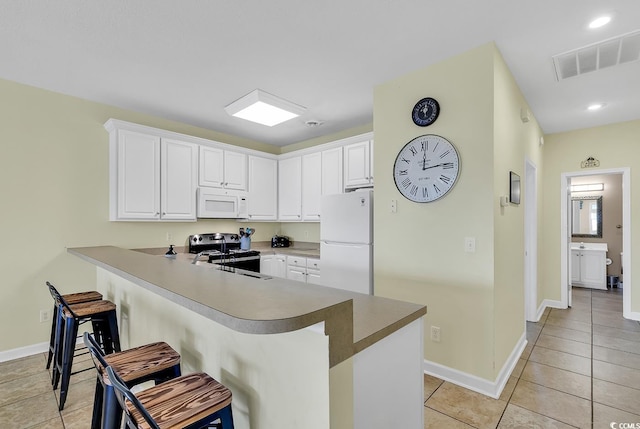
[[[374,86],[495,41],[555,133],[640,118],[640,61],[558,82],[551,60],[638,29],[637,0],[0,0],[0,78],[282,146],[368,124]],[[307,113],[225,113],[256,88]]]

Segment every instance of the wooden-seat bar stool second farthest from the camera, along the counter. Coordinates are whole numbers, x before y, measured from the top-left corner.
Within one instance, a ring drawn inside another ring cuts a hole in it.
[[[99,343],[106,354],[120,351],[120,336],[116,318],[116,305],[113,302],[100,300],[71,306],[53,286],[49,290],[52,296],[55,297],[55,301],[59,303],[56,337],[61,339],[61,344],[58,345],[55,355],[53,389],[55,390],[58,387],[58,382],[60,382],[60,404],[58,408],[62,411],[69,391],[78,326],[81,323],[91,322],[93,333],[99,339]]]

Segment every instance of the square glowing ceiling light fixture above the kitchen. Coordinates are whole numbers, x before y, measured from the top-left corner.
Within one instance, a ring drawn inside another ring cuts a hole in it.
[[[273,127],[302,115],[307,109],[256,89],[229,104],[224,110],[231,116]]]

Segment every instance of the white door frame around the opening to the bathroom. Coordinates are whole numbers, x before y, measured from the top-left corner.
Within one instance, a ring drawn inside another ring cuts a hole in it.
[[[622,257],[621,264],[624,269],[624,282],[623,282],[623,317],[627,319],[637,319],[633,317],[631,313],[631,288],[632,288],[632,267],[631,267],[631,178],[629,168],[614,168],[614,169],[602,169],[602,170],[589,170],[572,173],[562,173],[561,175],[561,204],[560,204],[560,216],[561,216],[561,242],[560,242],[560,254],[561,260],[561,302],[565,307],[571,306],[571,273],[570,273],[570,258],[571,258],[571,227],[570,227],[570,200],[571,192],[570,185],[572,178],[582,178],[585,176],[594,175],[609,175],[618,174],[622,175]],[[606,213],[603,214],[606,216]],[[637,316],[637,315],[636,315]]]

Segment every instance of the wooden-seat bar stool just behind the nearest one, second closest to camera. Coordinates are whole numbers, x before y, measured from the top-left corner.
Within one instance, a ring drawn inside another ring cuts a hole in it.
[[[85,332],[84,344],[97,370],[91,429],[117,429],[122,420],[122,409],[105,371],[107,366],[111,366],[129,388],[149,380],[159,384],[180,376],[180,354],[167,343],[152,343],[105,355],[95,339]]]

